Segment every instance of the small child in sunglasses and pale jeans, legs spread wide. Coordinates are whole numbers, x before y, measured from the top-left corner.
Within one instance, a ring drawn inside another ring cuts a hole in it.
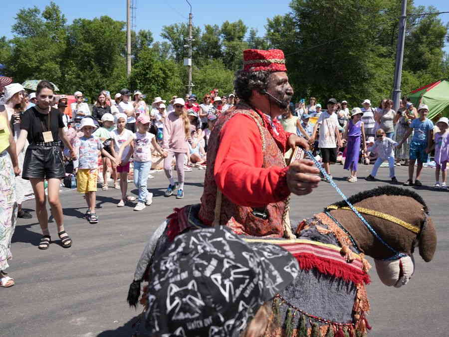
[[[374,181],[376,179],[377,170],[380,168],[381,164],[388,161],[388,166],[390,168],[390,178],[392,183],[398,183],[398,179],[395,176],[395,147],[398,146],[391,138],[388,138],[385,131],[382,129],[376,132],[376,142],[370,144],[371,147],[368,149],[369,152],[376,152],[378,158],[376,163],[374,163],[373,170],[371,174],[366,177],[366,180]]]

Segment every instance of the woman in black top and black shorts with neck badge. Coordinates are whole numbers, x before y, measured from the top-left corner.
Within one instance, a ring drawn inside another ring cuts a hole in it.
[[[50,82],[39,82],[36,90],[37,104],[23,114],[20,135],[17,140],[18,152],[22,150],[25,139],[28,139],[29,142],[25,153],[22,178],[31,181],[36,198],[36,215],[43,234],[39,249],[47,249],[51,240],[48,230],[44,179],[47,179],[48,182],[48,202],[58,226],[62,247],[69,248],[72,245],[72,240],[64,230],[62,207],[59,201],[60,179],[65,176],[59,140],[64,142],[72,158],[75,158],[75,155],[63,129],[62,115],[51,107],[53,90],[54,87]]]

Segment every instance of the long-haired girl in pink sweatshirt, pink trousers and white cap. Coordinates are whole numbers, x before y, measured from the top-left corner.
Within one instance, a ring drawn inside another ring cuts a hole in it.
[[[175,111],[171,112],[164,121],[162,148],[167,157],[164,160],[164,170],[170,185],[165,191],[165,196],[173,194],[176,188],[172,173],[173,157],[176,159],[176,170],[178,172],[178,193],[176,198],[184,197],[184,159],[189,150],[187,140],[190,137],[190,122],[184,109],[185,102],[177,98],[173,103]]]

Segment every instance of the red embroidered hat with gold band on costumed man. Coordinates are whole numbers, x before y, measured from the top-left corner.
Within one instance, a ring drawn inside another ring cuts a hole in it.
[[[287,71],[284,52],[280,49],[243,50],[244,71]]]

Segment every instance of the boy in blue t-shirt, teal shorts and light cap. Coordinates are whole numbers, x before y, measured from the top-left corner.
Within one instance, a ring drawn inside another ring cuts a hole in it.
[[[409,179],[404,183],[404,186],[422,186],[420,181],[421,171],[423,170],[423,163],[427,163],[429,158],[428,153],[431,148],[431,140],[433,138],[434,123],[427,118],[429,107],[426,104],[421,104],[418,108],[420,118],[416,118],[410,124],[410,129],[404,135],[404,138],[399,142],[398,147],[405,142],[405,140],[415,131],[412,142],[410,143],[410,161],[409,161]],[[418,161],[416,169],[416,179],[413,183],[413,173],[415,171],[415,163]]]

